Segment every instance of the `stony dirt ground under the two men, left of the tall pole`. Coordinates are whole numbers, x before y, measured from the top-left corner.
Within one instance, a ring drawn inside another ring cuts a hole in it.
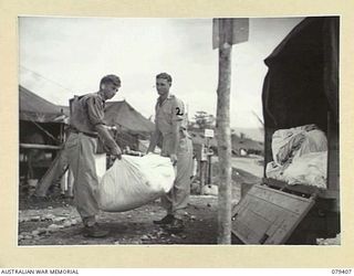
[[[110,230],[105,238],[82,235],[76,210],[63,206],[20,210],[19,245],[84,245],[84,244],[216,244],[217,198],[192,195],[186,210],[186,229],[180,234],[165,232],[153,220],[164,216],[159,202],[124,212],[98,215],[98,223]]]

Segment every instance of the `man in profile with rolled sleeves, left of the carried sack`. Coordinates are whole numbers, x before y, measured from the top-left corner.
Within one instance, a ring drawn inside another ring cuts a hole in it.
[[[100,135],[105,151],[121,159],[121,149],[108,131],[111,127],[103,119],[105,100],[113,98],[119,87],[119,77],[107,75],[101,79],[97,93],[75,96],[70,100],[71,132],[64,150],[73,171],[74,203],[82,217],[85,236],[103,237],[108,234],[96,223],[98,178],[94,155]]]

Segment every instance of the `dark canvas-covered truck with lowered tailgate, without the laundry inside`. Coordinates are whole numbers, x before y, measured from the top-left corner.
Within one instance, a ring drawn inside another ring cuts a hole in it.
[[[232,208],[235,243],[316,244],[341,232],[339,44],[339,17],[309,17],[264,60],[264,174]],[[308,124],[327,139],[326,189],[266,173],[274,131]]]

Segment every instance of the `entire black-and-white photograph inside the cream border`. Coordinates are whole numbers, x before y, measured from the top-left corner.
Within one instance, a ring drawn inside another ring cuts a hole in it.
[[[340,33],[19,15],[17,246],[341,245]]]

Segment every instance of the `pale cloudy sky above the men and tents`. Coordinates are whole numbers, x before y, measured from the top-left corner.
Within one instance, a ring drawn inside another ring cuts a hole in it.
[[[231,127],[260,127],[254,113],[262,118],[263,60],[302,19],[250,19],[249,40],[232,46]],[[116,74],[122,87],[113,100],[150,117],[162,72],[173,76],[170,92],[185,102],[189,119],[198,110],[216,115],[212,19],[19,19],[19,83],[54,104],[97,92],[104,75]]]

